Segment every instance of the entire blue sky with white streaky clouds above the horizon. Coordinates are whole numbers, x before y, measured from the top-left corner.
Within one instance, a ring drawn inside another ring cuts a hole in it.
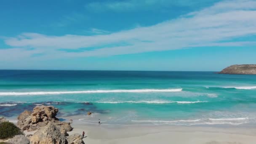
[[[1,0],[0,69],[256,64],[256,0]]]

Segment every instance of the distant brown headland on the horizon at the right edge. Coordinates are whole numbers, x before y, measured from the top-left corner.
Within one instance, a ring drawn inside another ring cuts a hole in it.
[[[223,69],[220,74],[256,75],[256,64],[232,65]]]

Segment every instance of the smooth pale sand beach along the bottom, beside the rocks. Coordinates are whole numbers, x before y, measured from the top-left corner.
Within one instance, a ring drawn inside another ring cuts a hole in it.
[[[73,119],[73,131],[85,131],[85,144],[255,144],[256,129],[220,126],[98,125]],[[32,132],[25,132],[26,134]]]

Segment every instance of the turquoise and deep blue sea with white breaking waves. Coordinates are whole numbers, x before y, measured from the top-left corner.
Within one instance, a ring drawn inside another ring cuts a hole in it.
[[[256,75],[0,70],[0,115],[36,105],[104,124],[254,125]]]

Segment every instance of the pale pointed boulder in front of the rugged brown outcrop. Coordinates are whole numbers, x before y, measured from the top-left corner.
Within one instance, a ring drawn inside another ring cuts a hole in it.
[[[54,123],[49,123],[30,137],[31,144],[67,144],[67,140],[56,128]]]

